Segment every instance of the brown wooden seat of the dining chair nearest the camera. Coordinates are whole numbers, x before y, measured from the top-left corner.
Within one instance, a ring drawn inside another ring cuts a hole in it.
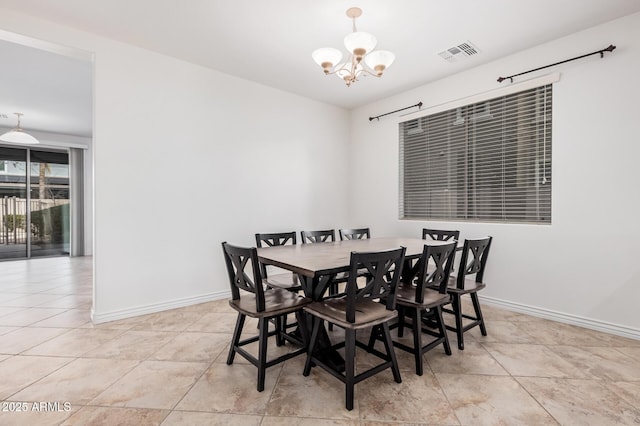
[[[358,302],[356,306],[355,322],[350,323],[346,320],[346,297],[313,302],[305,306],[304,310],[339,327],[352,330],[372,327],[398,316],[397,311],[387,310],[381,303],[374,302],[373,300],[363,300]]]

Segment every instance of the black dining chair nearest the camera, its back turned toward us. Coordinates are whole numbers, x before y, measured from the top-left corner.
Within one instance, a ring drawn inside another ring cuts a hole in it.
[[[311,365],[315,363],[315,365],[327,370],[332,376],[342,381],[345,384],[345,405],[347,410],[353,409],[356,383],[387,368],[391,369],[393,378],[397,383],[402,382],[389,333],[389,321],[398,316],[395,310],[395,294],[398,280],[402,273],[405,250],[404,247],[400,247],[380,252],[352,252],[345,296],[313,302],[304,308],[306,313],[312,315],[313,331],[303,374],[308,376],[311,372]],[[391,266],[394,266],[393,270],[390,270]],[[367,282],[364,287],[358,288],[358,270],[361,268],[368,270],[366,275]],[[391,277],[390,280],[387,279],[389,276]],[[385,299],[384,304],[378,303],[380,298]],[[320,329],[324,326],[325,321],[344,329],[344,340],[331,346],[333,350],[344,347],[344,372],[333,368],[322,357],[316,356],[315,349],[318,344]],[[368,330],[376,325],[381,326],[381,339],[386,353],[375,349],[369,351],[367,344],[356,340],[356,332],[358,330]],[[356,375],[356,347],[367,350],[384,362]]]

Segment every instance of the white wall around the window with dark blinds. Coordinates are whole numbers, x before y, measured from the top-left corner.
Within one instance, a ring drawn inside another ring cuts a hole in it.
[[[398,220],[398,118],[367,117],[418,101],[423,108],[510,84],[511,75],[613,43],[591,56],[516,79],[559,71],[553,87],[553,217],[550,226]],[[392,78],[393,70],[385,78]],[[351,221],[377,235],[423,227],[492,235],[489,302],[640,338],[640,14],[453,75],[352,114]],[[393,161],[389,161],[393,159]],[[370,200],[378,200],[371,205]]]

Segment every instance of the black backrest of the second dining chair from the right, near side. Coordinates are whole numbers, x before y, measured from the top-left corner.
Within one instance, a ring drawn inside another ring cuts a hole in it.
[[[457,241],[437,246],[425,244],[418,260],[416,303],[424,302],[425,288],[436,287],[440,293],[446,294],[457,245]]]

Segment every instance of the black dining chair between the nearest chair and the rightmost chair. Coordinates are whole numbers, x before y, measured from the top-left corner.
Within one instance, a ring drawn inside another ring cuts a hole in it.
[[[451,296],[447,293],[447,284],[456,246],[456,241],[438,246],[425,244],[418,260],[418,279],[415,282],[401,282],[396,292],[398,322],[390,328],[398,328],[398,339],[393,341],[393,345],[413,353],[416,374],[419,376],[423,374],[423,355],[427,351],[442,344],[445,353],[451,355],[447,329],[442,319],[442,307],[451,301]],[[423,320],[427,315],[433,321],[434,327],[423,326]],[[411,318],[413,346],[406,345],[400,340],[403,337],[406,316]],[[435,337],[435,339],[431,339],[423,346],[423,333]],[[369,347],[372,347],[375,339],[379,338],[380,330],[379,327],[376,327],[372,330]]]

